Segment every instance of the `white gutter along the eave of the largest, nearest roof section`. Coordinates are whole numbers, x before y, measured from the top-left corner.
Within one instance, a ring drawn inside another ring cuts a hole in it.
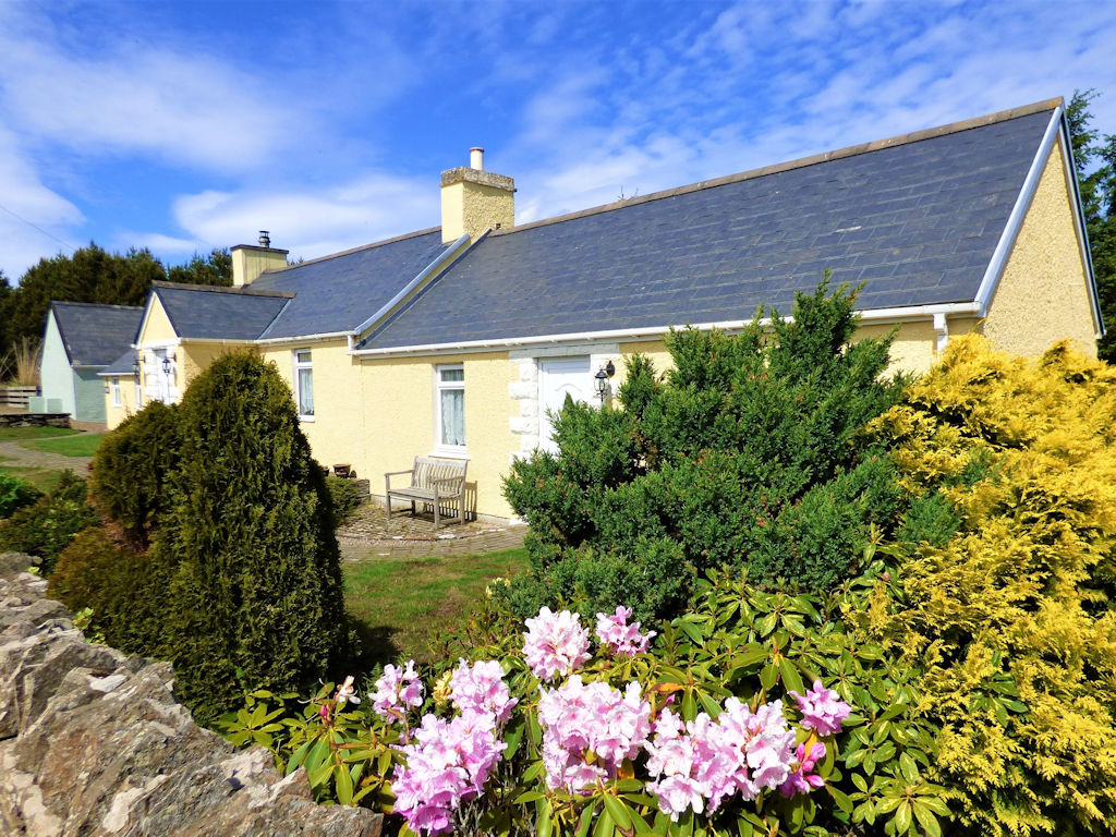
[[[977,302],[944,302],[941,305],[916,305],[901,308],[869,308],[857,311],[862,323],[899,323],[905,320],[933,319],[936,316],[949,315],[979,316]],[[793,321],[792,317],[783,317],[788,323]],[[452,352],[483,352],[485,349],[519,348],[523,346],[541,346],[562,343],[598,343],[604,340],[627,339],[633,343],[639,340],[652,340],[662,337],[672,328],[696,328],[700,331],[709,331],[714,328],[722,331],[739,331],[750,326],[751,319],[733,319],[720,323],[699,323],[686,326],[684,324],[648,326],[644,328],[613,328],[604,331],[576,331],[569,334],[550,334],[533,337],[511,337],[493,340],[463,340],[461,343],[429,343],[420,346],[391,346],[386,348],[353,349],[348,354],[358,357],[383,357],[387,355],[433,355]],[[760,320],[761,326],[771,325],[771,318]]]

